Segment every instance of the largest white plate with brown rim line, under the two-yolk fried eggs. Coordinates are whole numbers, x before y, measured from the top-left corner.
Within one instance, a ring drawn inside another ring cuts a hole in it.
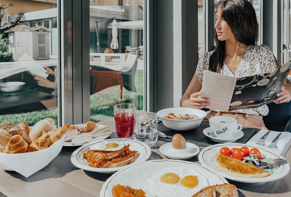
[[[142,189],[145,191],[143,185],[146,180],[152,174],[171,165],[176,165],[179,167],[185,166],[189,169],[197,170],[206,177],[209,185],[228,183],[222,176],[217,175],[214,170],[207,169],[202,165],[181,160],[159,159],[130,165],[123,168],[122,170],[119,170],[105,181],[100,191],[100,197],[112,196],[112,189],[117,184],[128,185],[134,189]],[[192,195],[194,194],[191,194],[191,196]]]

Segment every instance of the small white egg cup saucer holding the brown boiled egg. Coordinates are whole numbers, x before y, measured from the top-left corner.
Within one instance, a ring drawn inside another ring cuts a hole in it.
[[[199,153],[199,148],[195,144],[186,142],[186,149],[174,149],[172,142],[163,144],[160,147],[160,152],[170,159],[186,160],[194,157]]]

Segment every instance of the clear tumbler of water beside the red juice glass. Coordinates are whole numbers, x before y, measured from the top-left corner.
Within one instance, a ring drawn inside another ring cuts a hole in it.
[[[158,140],[158,121],[154,114],[138,114],[134,116],[133,139],[149,146]]]

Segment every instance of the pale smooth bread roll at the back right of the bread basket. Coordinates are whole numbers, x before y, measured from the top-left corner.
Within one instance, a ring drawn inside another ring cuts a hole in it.
[[[32,141],[42,136],[44,130],[52,131],[55,127],[55,120],[52,118],[46,118],[38,121],[30,130],[29,137]]]

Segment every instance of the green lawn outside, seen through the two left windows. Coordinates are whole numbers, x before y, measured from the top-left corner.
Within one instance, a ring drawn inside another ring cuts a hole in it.
[[[97,92],[90,96],[90,114],[92,116],[105,115],[113,117],[113,105],[117,103],[133,103],[136,105],[136,109],[143,109],[143,71],[137,70],[135,73],[135,87],[137,92],[129,92],[123,88],[122,100],[120,100],[119,92],[120,86],[114,86]],[[0,116],[0,124],[4,122],[13,122],[19,124],[23,120],[26,120],[29,125],[34,125],[39,120],[45,118],[53,118],[57,123],[58,109],[39,110],[35,112],[28,112],[23,114],[12,114]],[[99,122],[100,120],[91,118],[93,122]]]

